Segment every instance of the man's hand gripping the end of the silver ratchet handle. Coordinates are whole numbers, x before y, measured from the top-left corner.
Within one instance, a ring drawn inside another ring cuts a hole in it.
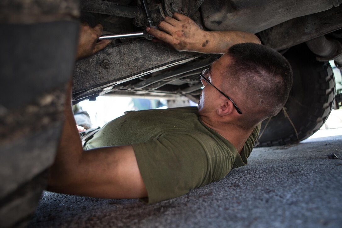
[[[83,23],[80,26],[80,33],[78,38],[78,48],[76,59],[86,58],[97,51],[104,49],[111,40],[101,40],[96,43],[98,37],[102,34],[102,25],[96,25],[95,27],[90,27],[87,23]]]

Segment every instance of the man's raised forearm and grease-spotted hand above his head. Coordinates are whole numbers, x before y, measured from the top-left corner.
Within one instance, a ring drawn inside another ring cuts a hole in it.
[[[189,17],[174,13],[159,23],[160,30],[147,28],[155,36],[177,51],[225,54],[229,47],[237,43],[261,43],[259,38],[243,31],[204,31]]]

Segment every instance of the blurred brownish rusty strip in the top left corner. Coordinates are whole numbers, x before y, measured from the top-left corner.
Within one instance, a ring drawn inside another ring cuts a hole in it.
[[[79,17],[79,0],[1,0],[1,23],[51,22]]]

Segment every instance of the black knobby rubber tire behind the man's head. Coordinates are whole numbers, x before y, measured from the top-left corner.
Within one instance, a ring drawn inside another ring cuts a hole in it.
[[[298,143],[313,135],[329,116],[335,79],[328,62],[318,62],[305,45],[284,54],[292,66],[293,86],[278,115],[262,122],[256,147]]]

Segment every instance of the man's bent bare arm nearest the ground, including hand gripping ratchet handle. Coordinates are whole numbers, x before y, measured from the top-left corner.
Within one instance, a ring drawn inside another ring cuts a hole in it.
[[[105,48],[97,42],[102,26],[83,24],[76,59]],[[65,122],[55,162],[50,168],[48,190],[100,198],[147,197],[132,146],[104,147],[83,151],[71,109],[71,83],[65,105]]]

